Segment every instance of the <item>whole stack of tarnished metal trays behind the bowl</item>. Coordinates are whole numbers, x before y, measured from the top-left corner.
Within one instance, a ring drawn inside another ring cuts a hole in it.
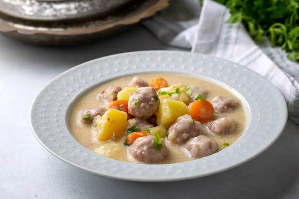
[[[112,35],[169,0],[0,0],[0,32],[21,41],[70,45]]]

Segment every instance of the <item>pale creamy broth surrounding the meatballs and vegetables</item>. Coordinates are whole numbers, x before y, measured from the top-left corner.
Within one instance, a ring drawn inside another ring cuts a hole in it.
[[[213,83],[190,77],[190,76],[182,76],[178,74],[163,74],[163,73],[152,73],[152,74],[143,74],[138,75],[140,78],[146,80],[147,82],[150,82],[152,79],[156,77],[162,77],[167,82],[168,85],[174,85],[181,83],[185,86],[194,85],[199,86],[202,88],[205,88],[208,90],[208,95],[206,96],[207,100],[212,100],[216,96],[222,96],[226,98],[235,98],[237,99],[233,94],[231,94],[229,91],[225,90],[224,88],[215,85]],[[123,146],[124,138],[117,140],[117,141],[98,141],[96,138],[96,132],[95,128],[88,125],[83,125],[80,123],[80,118],[82,116],[82,112],[86,108],[93,108],[98,107],[100,105],[103,105],[103,102],[96,99],[96,96],[98,93],[100,93],[102,90],[107,89],[111,86],[120,86],[122,88],[127,87],[128,83],[132,80],[134,76],[126,76],[119,79],[115,79],[113,81],[107,82],[105,84],[102,84],[96,88],[93,88],[92,90],[88,91],[78,99],[76,99],[74,105],[72,106],[69,114],[69,130],[73,134],[74,138],[82,144],[87,149],[97,152],[99,147],[105,147],[111,144],[112,142],[117,142],[120,146],[120,150],[117,153],[111,153],[111,154],[104,154],[106,157],[124,161],[124,162],[134,162],[132,161],[132,158],[130,158],[127,155],[127,149],[128,147]],[[242,103],[239,100],[240,105],[232,112],[232,113],[215,113],[215,117],[223,117],[223,116],[230,116],[236,119],[237,125],[236,130],[233,133],[230,134],[214,134],[211,132],[208,132],[206,130],[206,126],[202,125],[202,134],[210,137],[211,139],[214,139],[218,145],[218,149],[216,152],[223,150],[226,148],[224,146],[224,143],[229,143],[230,145],[234,143],[244,132],[245,125],[246,125],[246,115],[244,112],[244,109],[242,107]],[[169,154],[165,160],[162,162],[154,163],[154,164],[170,164],[170,163],[179,163],[179,162],[185,162],[193,160],[188,155],[185,154],[185,152],[182,150],[182,148],[179,145],[172,144],[165,139],[166,146],[168,148]]]

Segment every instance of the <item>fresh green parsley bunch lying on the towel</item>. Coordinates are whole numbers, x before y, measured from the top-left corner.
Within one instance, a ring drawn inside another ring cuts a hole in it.
[[[299,62],[299,0],[215,0],[229,8],[227,23],[242,21],[250,35],[272,46],[281,46],[288,58]]]

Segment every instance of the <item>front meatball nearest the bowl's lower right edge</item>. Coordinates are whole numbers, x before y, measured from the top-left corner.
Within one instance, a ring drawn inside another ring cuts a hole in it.
[[[192,158],[202,158],[212,155],[217,150],[217,144],[205,135],[191,138],[184,146]]]

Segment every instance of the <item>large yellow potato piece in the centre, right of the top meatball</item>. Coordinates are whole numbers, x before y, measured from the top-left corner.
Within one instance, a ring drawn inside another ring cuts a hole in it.
[[[190,114],[188,106],[177,100],[165,99],[163,100],[155,115],[157,116],[157,124],[168,128],[179,116]]]

